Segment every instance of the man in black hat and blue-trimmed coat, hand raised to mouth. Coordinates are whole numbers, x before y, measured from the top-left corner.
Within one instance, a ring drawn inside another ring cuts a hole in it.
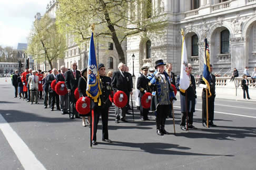
[[[163,60],[155,61],[156,71],[148,77],[150,83],[156,86],[156,91],[152,92],[151,111],[156,112],[156,133],[158,135],[169,134],[164,126],[170,112],[171,101],[174,98],[171,79],[164,70],[164,65]]]

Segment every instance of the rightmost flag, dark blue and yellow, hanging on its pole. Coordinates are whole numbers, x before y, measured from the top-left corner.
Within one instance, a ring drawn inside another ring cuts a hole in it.
[[[203,63],[203,81],[205,82],[207,89],[209,90],[209,97],[212,95],[210,91],[211,73],[210,73],[210,50],[207,43],[207,39],[204,39],[204,63]]]

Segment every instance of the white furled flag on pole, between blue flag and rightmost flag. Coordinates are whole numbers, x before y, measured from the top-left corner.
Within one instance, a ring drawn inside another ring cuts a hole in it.
[[[181,50],[181,74],[180,74],[180,91],[185,93],[185,90],[190,86],[188,56],[186,55],[186,42],[184,31],[181,29],[182,35],[182,50]]]

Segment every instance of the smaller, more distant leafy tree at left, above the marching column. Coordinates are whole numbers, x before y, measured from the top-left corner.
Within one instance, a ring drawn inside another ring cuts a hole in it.
[[[34,22],[27,53],[39,63],[46,57],[53,69],[53,60],[64,58],[65,44],[65,37],[58,33],[55,19],[45,14],[40,20]]]

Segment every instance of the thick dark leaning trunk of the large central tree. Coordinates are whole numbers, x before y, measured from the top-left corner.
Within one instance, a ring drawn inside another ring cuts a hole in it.
[[[101,5],[102,5],[102,8],[103,8],[103,11],[104,11],[104,16],[105,16],[105,19],[106,19],[106,22],[107,22],[107,27],[109,27],[110,31],[111,31],[111,34],[112,34],[112,40],[115,44],[115,49],[117,51],[117,54],[119,56],[119,60],[123,63],[125,63],[125,57],[124,57],[124,51],[123,51],[123,48],[120,44],[120,41],[119,39],[117,38],[117,35],[116,35],[116,32],[115,32],[115,28],[114,26],[111,24],[111,20],[110,20],[110,16],[109,16],[109,12],[107,11],[107,8],[106,8],[106,4],[103,0],[99,0]]]

